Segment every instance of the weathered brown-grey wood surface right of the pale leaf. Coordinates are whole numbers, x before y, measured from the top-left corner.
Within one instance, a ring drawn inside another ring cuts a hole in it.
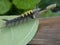
[[[38,31],[29,44],[60,45],[60,17],[41,19]]]

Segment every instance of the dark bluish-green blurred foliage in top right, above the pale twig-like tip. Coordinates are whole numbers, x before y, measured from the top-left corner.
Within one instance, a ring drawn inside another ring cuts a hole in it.
[[[60,0],[41,0],[38,6],[40,8],[45,8],[47,5],[56,3],[57,6],[60,6]]]

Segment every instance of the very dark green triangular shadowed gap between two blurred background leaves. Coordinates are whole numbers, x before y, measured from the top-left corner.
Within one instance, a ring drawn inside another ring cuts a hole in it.
[[[24,9],[18,9],[15,5],[12,5],[10,10],[5,15],[19,15],[24,12]]]

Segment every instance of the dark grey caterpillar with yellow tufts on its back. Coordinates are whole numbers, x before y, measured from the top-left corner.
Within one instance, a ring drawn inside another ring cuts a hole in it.
[[[3,21],[5,21],[5,26],[15,25],[16,23],[19,23],[21,20],[24,20],[27,17],[31,19],[36,18],[39,11],[40,11],[40,8],[29,10],[21,14],[19,17],[16,17],[11,20],[3,19]]]

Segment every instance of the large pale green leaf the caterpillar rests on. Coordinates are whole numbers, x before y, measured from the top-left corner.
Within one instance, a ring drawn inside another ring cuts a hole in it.
[[[0,16],[0,45],[26,45],[35,35],[38,28],[38,20],[27,20],[10,28],[4,26],[2,19],[13,19],[17,16]]]

